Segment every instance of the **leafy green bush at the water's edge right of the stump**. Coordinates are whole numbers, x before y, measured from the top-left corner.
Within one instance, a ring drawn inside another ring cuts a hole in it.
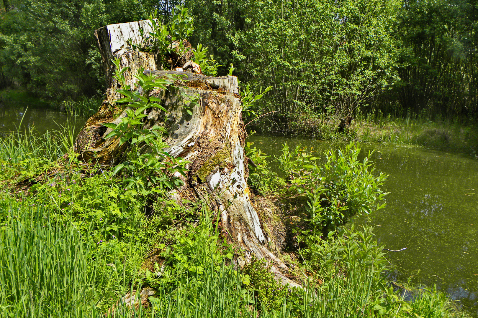
[[[358,160],[360,148],[349,143],[345,149],[330,151],[326,161],[318,165],[318,159],[306,150],[296,147],[290,151],[284,144],[277,160],[282,171],[290,173],[291,195],[305,194],[307,202],[306,228],[314,236],[332,236],[340,226],[354,215],[369,214],[371,209],[380,210],[384,193],[380,187],[387,175],[374,174],[375,168],[364,157]]]

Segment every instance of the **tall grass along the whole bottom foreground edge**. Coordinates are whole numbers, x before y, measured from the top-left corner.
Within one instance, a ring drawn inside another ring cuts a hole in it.
[[[43,207],[19,203],[3,205],[0,229],[0,308],[3,317],[99,317],[130,291],[124,281],[128,269],[111,249],[88,244],[75,226],[55,220]],[[109,260],[112,263],[107,263]],[[116,262],[114,261],[116,259]],[[384,290],[377,288],[373,269],[350,267],[329,270],[326,284],[317,289],[294,290],[280,298],[282,306],[267,310],[242,286],[232,266],[210,263],[201,279],[178,277],[174,284],[157,287],[150,308],[139,308],[138,317],[391,317],[385,311]],[[131,277],[135,281],[138,277]],[[141,278],[141,277],[140,277]],[[421,293],[413,302],[396,298],[398,317],[459,317],[450,311],[444,294]],[[115,307],[116,308],[116,307]],[[380,309],[383,311],[380,313]],[[408,311],[408,314],[407,314]],[[118,306],[116,317],[131,317]]]

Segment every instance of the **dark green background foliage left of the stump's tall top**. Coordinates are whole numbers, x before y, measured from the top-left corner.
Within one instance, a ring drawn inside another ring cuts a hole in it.
[[[26,88],[45,99],[78,99],[104,91],[93,36],[110,24],[146,19],[174,3],[157,1],[9,0],[0,7],[0,88]]]

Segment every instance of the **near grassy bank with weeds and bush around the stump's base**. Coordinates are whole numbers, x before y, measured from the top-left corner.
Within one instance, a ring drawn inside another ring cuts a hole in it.
[[[372,229],[342,229],[359,207],[373,210],[384,181],[369,163],[353,164],[352,145],[343,156],[329,154],[328,168],[314,166],[313,154],[284,146],[281,167],[296,182],[271,173],[257,149],[246,149],[257,165],[250,167],[253,191],[310,203],[288,224],[302,245],[281,256],[305,289],[282,287],[260,260],[235,267],[231,260],[242,252],[225,243],[207,202],[169,200],[160,188],[139,191],[130,174],[80,165],[65,154],[67,145],[50,135],[0,140],[1,317],[466,316],[433,288],[405,301],[384,278],[386,256]],[[55,169],[64,173],[38,182]],[[374,190],[349,191],[355,203],[337,190],[347,216],[327,223],[324,216],[338,210],[316,202],[323,191],[318,180],[331,184],[345,175],[342,169],[350,171],[342,180],[346,190],[359,184]],[[141,178],[141,170],[133,177]],[[308,193],[296,191],[301,188]],[[155,293],[131,313],[121,297],[146,286]]]

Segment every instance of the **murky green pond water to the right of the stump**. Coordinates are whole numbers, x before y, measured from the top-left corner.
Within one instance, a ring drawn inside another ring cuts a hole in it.
[[[279,154],[282,144],[301,143],[322,152],[340,144],[312,140],[250,136],[266,154]],[[467,155],[420,148],[361,145],[376,149],[372,160],[389,174],[387,206],[369,222],[397,266],[391,278],[433,286],[478,314],[478,160]],[[273,164],[272,164],[273,166]]]

